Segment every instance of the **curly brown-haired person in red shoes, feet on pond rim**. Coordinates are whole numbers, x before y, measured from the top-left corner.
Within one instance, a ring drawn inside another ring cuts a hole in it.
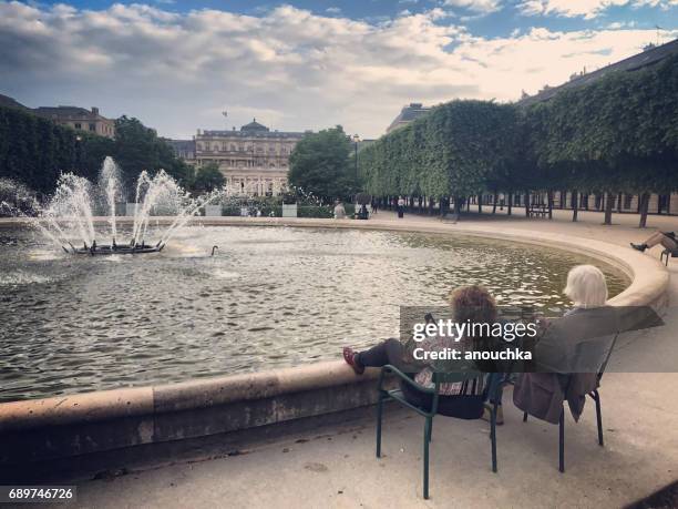
[[[471,320],[492,324],[496,322],[497,311],[494,298],[481,286],[464,286],[454,291],[450,296],[450,304],[458,323]],[[442,352],[444,348],[465,352],[473,349],[474,345],[482,340],[483,338],[463,337],[455,342],[453,337],[436,336],[427,337],[418,343],[417,347],[427,352]],[[382,367],[390,364],[408,374],[418,384],[429,388],[433,387],[433,366],[423,362],[414,362],[407,345],[396,338],[387,339],[363,352],[353,352],[352,348],[346,347],[343,348],[343,358],[359,375],[364,371],[366,367]],[[446,368],[449,369],[450,366],[446,365]],[[433,398],[431,394],[421,393],[402,381],[400,388],[405,399],[412,405],[425,410],[431,408]],[[482,390],[482,381],[480,380],[475,384],[473,395],[462,394],[462,384],[460,383],[440,384],[439,413],[463,419],[477,419],[483,414]]]

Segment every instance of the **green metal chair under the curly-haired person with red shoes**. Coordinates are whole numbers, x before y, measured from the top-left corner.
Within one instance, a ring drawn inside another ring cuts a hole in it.
[[[410,385],[412,388],[432,395],[432,404],[430,411],[412,405],[408,401],[400,388],[387,389],[384,388],[384,381],[388,375],[394,375],[402,383]],[[464,370],[460,373],[433,373],[433,387],[424,387],[411,377],[391,365],[386,365],[381,368],[379,375],[379,397],[377,399],[377,457],[381,457],[381,420],[383,416],[383,403],[387,400],[396,400],[400,405],[403,405],[424,418],[424,432],[423,432],[423,497],[429,498],[429,444],[431,442],[433,434],[433,417],[438,414],[439,404],[439,390],[440,384],[442,383],[462,383],[466,384],[473,380],[480,380],[483,377],[483,373],[477,370]],[[501,390],[501,376],[500,374],[491,374],[487,383],[487,394],[491,397],[487,399],[491,401],[486,404],[491,413],[490,419],[490,439],[492,442],[492,471],[496,472],[496,409],[501,400],[499,396]]]

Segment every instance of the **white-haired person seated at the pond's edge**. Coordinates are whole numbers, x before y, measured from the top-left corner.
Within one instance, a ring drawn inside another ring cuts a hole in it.
[[[567,285],[563,293],[572,299],[574,306],[565,313],[561,323],[554,320],[553,324],[546,324],[544,337],[538,340],[534,350],[537,366],[542,366],[540,369],[548,373],[522,373],[513,389],[513,403],[516,407],[552,424],[558,424],[565,400],[574,419],[578,420],[584,410],[586,395],[598,387],[597,373],[582,373],[582,366],[573,366],[572,359],[564,358],[564,353],[576,350],[577,343],[606,336],[610,330],[609,327],[614,326],[614,324],[604,326],[603,333],[595,330],[596,324],[600,322],[599,318],[605,318],[605,309],[610,309],[605,307],[607,301],[605,275],[597,267],[577,265],[572,268],[567,274]],[[557,347],[558,342],[567,344],[562,344],[556,352],[553,347]],[[606,345],[609,346],[609,343]],[[605,352],[605,348],[602,350]],[[579,362],[585,366],[586,360],[590,360],[590,364],[596,366],[590,367],[590,370],[597,370],[598,359],[585,358]],[[543,366],[551,367],[543,368]],[[558,366],[567,366],[568,371],[564,373]]]

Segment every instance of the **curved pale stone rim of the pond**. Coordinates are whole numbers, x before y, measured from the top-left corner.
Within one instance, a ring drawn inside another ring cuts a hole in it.
[[[101,218],[96,221],[106,221]],[[125,223],[125,218],[121,218]],[[132,218],[130,218],[132,220]],[[173,217],[154,217],[158,224]],[[0,218],[2,225],[21,220]],[[394,223],[370,220],[199,217],[193,224],[382,230],[482,236],[555,247],[599,259],[620,271],[630,285],[609,301],[614,306],[664,308],[668,271],[658,259],[602,241],[572,235],[496,230],[496,225]],[[176,384],[121,388],[0,404],[0,469],[34,471],[37,462],[127,449],[216,434],[337,416],[374,403],[376,373],[356,377],[342,360],[251,374],[191,379]]]

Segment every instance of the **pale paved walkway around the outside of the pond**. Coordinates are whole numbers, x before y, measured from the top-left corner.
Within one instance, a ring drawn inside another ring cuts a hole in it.
[[[521,211],[518,210],[518,213]],[[641,240],[636,215],[556,211],[554,221],[516,216],[470,216],[451,230],[504,227],[546,230],[619,245]],[[399,221],[380,212],[381,221]],[[408,215],[404,220],[436,221]],[[678,217],[649,218],[649,225],[678,230]],[[648,256],[658,256],[657,248]],[[678,261],[669,264],[670,299],[678,302]],[[578,424],[566,419],[566,472],[557,471],[557,427],[521,413],[505,395],[499,428],[499,474],[490,469],[487,426],[482,421],[436,418],[431,452],[431,499],[421,497],[422,421],[392,413],[384,425],[386,457],[374,458],[373,420],[319,428],[268,442],[243,444],[247,452],[133,471],[79,486],[82,507],[620,507],[678,479],[678,314],[667,327],[626,345],[616,363],[643,359],[655,371],[607,373],[600,390],[605,448],[596,442],[595,411],[588,404]]]

